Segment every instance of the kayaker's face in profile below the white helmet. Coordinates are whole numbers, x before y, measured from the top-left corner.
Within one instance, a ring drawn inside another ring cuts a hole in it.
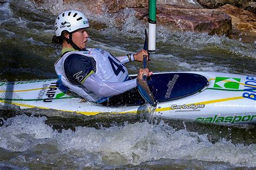
[[[89,35],[85,29],[79,29],[72,33],[72,41],[81,49],[84,49],[87,45],[87,38]]]

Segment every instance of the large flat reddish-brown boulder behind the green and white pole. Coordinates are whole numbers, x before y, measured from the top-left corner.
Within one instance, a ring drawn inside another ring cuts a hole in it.
[[[136,11],[136,17],[147,19],[147,9]],[[231,17],[219,9],[186,9],[177,5],[158,5],[157,22],[175,30],[207,32],[211,35],[229,36],[232,30]]]

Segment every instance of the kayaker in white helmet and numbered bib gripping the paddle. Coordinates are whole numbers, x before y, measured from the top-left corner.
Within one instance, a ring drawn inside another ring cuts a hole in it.
[[[98,48],[86,48],[89,21],[82,12],[65,11],[57,17],[52,42],[62,46],[62,56],[55,63],[55,71],[71,91],[88,101],[102,103],[111,96],[122,94],[137,86],[131,80],[124,63],[143,61],[147,52],[113,56]],[[148,60],[148,58],[147,58]],[[139,69],[137,79],[150,76],[149,69]]]

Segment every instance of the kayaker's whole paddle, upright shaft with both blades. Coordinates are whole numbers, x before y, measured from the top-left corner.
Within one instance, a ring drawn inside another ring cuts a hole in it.
[[[143,49],[147,50],[148,43],[147,43],[147,32],[145,29],[145,42]],[[146,68],[147,63],[147,56],[143,56],[143,68]],[[140,95],[147,101],[152,107],[157,106],[157,102],[154,99],[153,94],[151,93],[149,89],[149,85],[147,84],[147,75],[143,75],[143,80],[137,79],[137,88],[139,90]]]

